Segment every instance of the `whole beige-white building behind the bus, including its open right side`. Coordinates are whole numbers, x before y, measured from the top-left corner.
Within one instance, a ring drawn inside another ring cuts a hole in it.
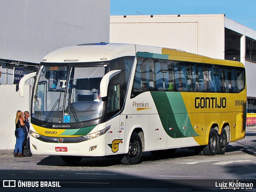
[[[110,42],[175,48],[212,58],[240,60],[246,67],[248,110],[251,103],[256,103],[256,31],[224,14],[110,16]],[[256,112],[248,112],[252,111]]]

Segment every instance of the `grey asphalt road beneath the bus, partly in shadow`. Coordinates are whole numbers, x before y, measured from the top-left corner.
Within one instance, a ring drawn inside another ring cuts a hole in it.
[[[254,186],[236,191],[255,191],[255,156],[256,133],[252,131],[228,144],[225,155],[198,156],[188,149],[178,149],[172,156],[144,152],[142,162],[132,166],[105,157],[83,158],[70,166],[59,156],[14,158],[12,150],[0,150],[0,191],[14,190],[3,188],[8,185],[4,180],[15,181],[16,187],[19,180],[24,181],[18,191],[219,191],[233,180]],[[48,188],[40,188],[43,181]],[[61,187],[52,187],[56,184]]]

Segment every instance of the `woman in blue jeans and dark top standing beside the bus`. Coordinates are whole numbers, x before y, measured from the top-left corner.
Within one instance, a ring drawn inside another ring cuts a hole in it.
[[[25,120],[25,117],[24,117],[23,112],[18,110],[16,112],[16,119],[15,119],[16,144],[15,144],[15,149],[14,149],[14,157],[24,157],[22,155],[22,143],[23,143],[24,138],[25,138],[25,134],[24,134],[24,131],[23,131],[23,128],[22,128],[22,126],[25,126],[24,120]]]

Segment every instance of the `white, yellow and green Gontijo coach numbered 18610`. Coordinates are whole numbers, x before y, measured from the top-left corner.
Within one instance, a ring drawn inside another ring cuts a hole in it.
[[[32,154],[67,163],[118,155],[137,164],[142,152],[176,148],[224,154],[245,136],[244,65],[134,44],[60,48],[39,66],[30,114]]]

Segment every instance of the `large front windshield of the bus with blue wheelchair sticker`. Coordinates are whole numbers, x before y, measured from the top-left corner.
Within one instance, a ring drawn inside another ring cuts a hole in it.
[[[102,116],[100,81],[107,63],[94,66],[41,66],[32,117],[53,123],[78,123]]]

